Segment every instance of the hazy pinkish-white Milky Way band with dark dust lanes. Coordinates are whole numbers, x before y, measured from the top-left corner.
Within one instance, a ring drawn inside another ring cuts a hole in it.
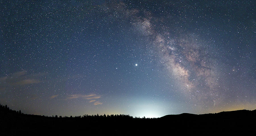
[[[181,87],[180,93],[200,106],[216,105],[221,102],[224,97],[218,84],[218,74],[221,73],[217,73],[219,68],[215,64],[216,58],[214,51],[212,52],[214,49],[209,49],[210,43],[201,41],[200,37],[191,33],[170,33],[164,30],[164,26],[160,26],[160,31],[157,31],[153,27],[156,25],[150,21],[150,12],[146,12],[144,16],[137,16],[136,14],[140,14],[138,9],[125,9],[123,3],[118,5],[118,8],[128,13],[125,14],[125,18],[128,15],[129,19],[133,20],[136,32],[149,39],[146,41],[151,46],[149,48],[153,48],[154,55],[159,58],[158,61],[168,69],[170,78],[177,81],[175,84]],[[154,19],[162,21],[157,17]]]

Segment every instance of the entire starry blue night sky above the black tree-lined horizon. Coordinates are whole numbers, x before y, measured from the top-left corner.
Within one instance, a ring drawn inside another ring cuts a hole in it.
[[[0,3],[0,103],[13,110],[256,109],[255,1]]]

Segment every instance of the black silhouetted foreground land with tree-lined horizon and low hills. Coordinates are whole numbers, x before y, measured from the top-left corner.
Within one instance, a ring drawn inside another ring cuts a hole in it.
[[[256,110],[215,114],[38,116],[0,108],[0,135],[231,135],[256,132]]]

